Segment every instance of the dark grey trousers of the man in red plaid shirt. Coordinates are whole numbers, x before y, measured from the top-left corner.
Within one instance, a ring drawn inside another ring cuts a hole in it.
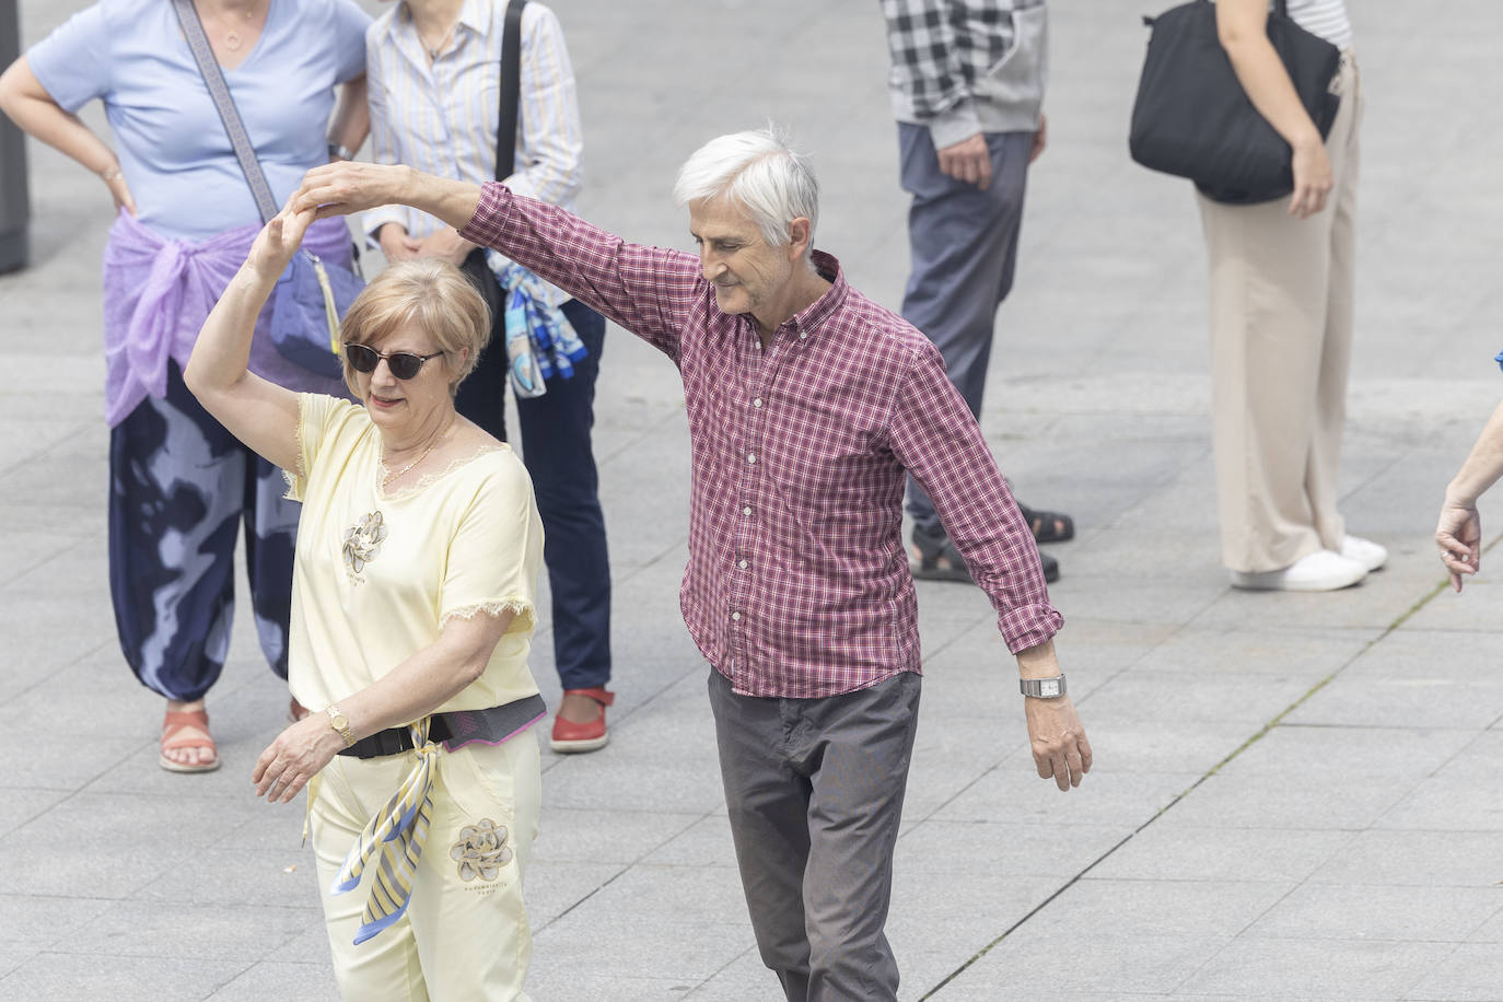
[[[897,997],[882,927],[918,690],[903,672],[843,696],[764,699],[709,673],[741,888],[789,1002]]]

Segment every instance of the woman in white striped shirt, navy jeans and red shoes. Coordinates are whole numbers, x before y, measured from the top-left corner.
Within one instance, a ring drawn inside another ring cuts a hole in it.
[[[541,3],[522,9],[516,162],[496,170],[507,6],[507,0],[401,0],[371,24],[365,48],[373,156],[472,183],[504,177],[513,191],[570,209],[583,180],[574,71],[564,29]],[[455,407],[505,442],[508,290],[499,281],[520,269],[407,206],[376,207],[365,213],[364,227],[386,260],[446,260],[485,297],[493,317],[490,347],[460,386]],[[546,394],[519,397],[517,418],[547,538],[553,656],[564,688],[552,747],[594,751],[607,741],[606,706],[613,700],[606,688],[610,559],[591,448],[606,321],[537,279],[526,287],[544,300],[544,309],[568,321],[585,350],[571,362],[571,374],[547,380]]]

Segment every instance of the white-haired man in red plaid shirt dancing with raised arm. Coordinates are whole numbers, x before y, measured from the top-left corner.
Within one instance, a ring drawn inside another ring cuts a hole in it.
[[[818,185],[768,132],[697,150],[675,189],[699,254],[406,167],[332,164],[298,207],[409,204],[493,246],[678,367],[693,449],[681,605],[711,665],[726,807],[762,958],[789,999],[894,999],[882,927],[918,715],[906,475],[1018,658],[1039,775],[1081,783],[1039,550],[935,346],[813,249]]]

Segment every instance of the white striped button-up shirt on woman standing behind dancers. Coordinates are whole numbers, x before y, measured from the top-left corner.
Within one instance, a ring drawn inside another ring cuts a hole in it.
[[[496,177],[500,113],[500,36],[507,0],[464,0],[454,35],[430,60],[406,3],[365,35],[371,149],[377,164],[407,164],[428,174],[481,183]],[[513,191],[570,207],[583,173],[583,138],[574,69],[564,29],[544,5],[522,12],[522,110]],[[364,215],[373,234],[398,222],[413,237],[443,227],[406,206]]]

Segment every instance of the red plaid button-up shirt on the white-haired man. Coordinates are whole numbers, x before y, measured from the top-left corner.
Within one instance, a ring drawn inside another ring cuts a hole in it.
[[[944,521],[1016,653],[1064,623],[1039,550],[944,361],[912,324],[833,285],[764,347],[682,251],[627,243],[500,183],[461,236],[643,338],[684,379],[693,452],[679,605],[736,693],[810,699],[918,672],[903,475]]]

